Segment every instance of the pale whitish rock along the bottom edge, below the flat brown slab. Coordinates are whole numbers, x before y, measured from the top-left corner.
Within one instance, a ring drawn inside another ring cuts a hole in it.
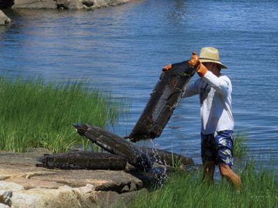
[[[115,191],[91,191],[90,188],[87,187],[85,192],[70,187],[14,191],[11,207],[120,207],[127,205],[136,195],[147,192],[142,189],[119,194]]]

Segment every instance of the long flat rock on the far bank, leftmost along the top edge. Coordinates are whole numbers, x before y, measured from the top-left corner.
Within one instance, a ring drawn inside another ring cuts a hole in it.
[[[56,9],[57,3],[53,0],[15,0],[12,8]]]

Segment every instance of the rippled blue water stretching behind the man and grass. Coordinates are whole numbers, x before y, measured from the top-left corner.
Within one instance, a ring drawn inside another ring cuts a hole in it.
[[[247,134],[247,155],[278,168],[277,8],[277,1],[145,0],[88,11],[4,10],[13,21],[0,27],[0,70],[62,82],[86,78],[131,101],[129,112],[108,127],[125,136],[161,68],[215,46],[229,67],[223,73],[233,83],[235,131]],[[201,163],[199,129],[198,96],[186,98],[161,137],[142,144]]]

